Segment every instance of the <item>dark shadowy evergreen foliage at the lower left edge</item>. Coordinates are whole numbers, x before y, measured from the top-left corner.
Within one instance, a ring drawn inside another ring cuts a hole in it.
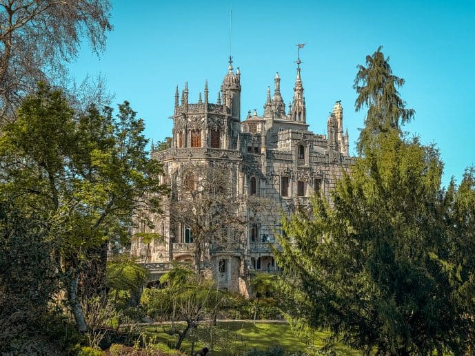
[[[11,355],[58,355],[47,321],[59,291],[52,243],[36,216],[0,201],[0,349]]]

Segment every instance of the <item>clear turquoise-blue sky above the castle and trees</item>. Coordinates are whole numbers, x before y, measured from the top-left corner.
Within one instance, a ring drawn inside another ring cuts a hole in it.
[[[71,70],[78,81],[101,74],[115,95],[145,119],[145,135],[170,136],[174,90],[185,81],[190,102],[208,79],[216,101],[228,56],[241,68],[241,118],[263,112],[267,86],[281,76],[292,100],[297,43],[301,50],[307,123],[326,133],[328,112],[341,100],[350,149],[363,126],[354,112],[356,65],[379,45],[390,56],[400,90],[415,120],[405,127],[436,143],[444,183],[460,181],[475,165],[475,1],[128,1],[112,0],[114,31],[97,57],[86,44]],[[232,9],[230,36],[229,13]],[[230,41],[231,38],[231,41]]]

